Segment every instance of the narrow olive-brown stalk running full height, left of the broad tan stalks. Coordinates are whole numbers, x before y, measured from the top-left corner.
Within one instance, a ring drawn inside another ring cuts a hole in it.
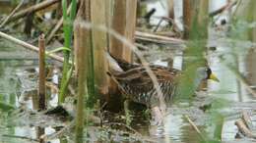
[[[78,77],[78,104],[77,104],[77,115],[76,115],[76,143],[83,142],[83,130],[84,130],[84,120],[87,119],[87,114],[84,115],[85,106],[88,107],[88,102],[90,102],[90,96],[93,96],[89,92],[89,75],[91,71],[94,71],[94,66],[90,59],[93,56],[92,51],[92,33],[90,29],[84,26],[85,20],[90,21],[90,6],[91,0],[85,0],[81,2],[79,8],[78,17],[75,23],[75,57],[77,66],[77,77]],[[92,60],[92,59],[91,59]],[[90,66],[91,65],[91,66]],[[93,77],[94,80],[94,77]],[[92,84],[92,82],[91,82]],[[94,81],[93,81],[94,85]],[[95,86],[95,85],[94,85]],[[94,88],[93,86],[93,88]]]

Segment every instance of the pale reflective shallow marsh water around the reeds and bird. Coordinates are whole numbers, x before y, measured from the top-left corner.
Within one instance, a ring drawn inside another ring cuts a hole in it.
[[[212,1],[213,3],[213,1]],[[223,4],[223,1],[221,2]],[[2,6],[2,5],[1,5]],[[160,3],[156,2],[149,4],[149,9],[152,7],[162,7]],[[180,8],[176,8],[180,9]],[[214,8],[213,8],[214,9]],[[165,15],[164,12],[160,11],[160,15]],[[177,14],[178,15],[178,14]],[[214,32],[214,31],[211,31]],[[218,38],[217,38],[218,37]],[[221,38],[220,38],[221,37]],[[212,39],[211,39],[212,38]],[[246,42],[240,43],[239,47],[242,46],[243,52],[236,51],[236,57],[233,56],[235,52],[234,45],[230,44],[228,39],[226,40],[224,36],[215,35],[210,38],[210,45],[217,47],[216,51],[209,51],[208,59],[209,65],[212,70],[218,75],[221,79],[220,83],[208,82],[208,91],[207,95],[214,98],[224,98],[232,102],[246,102],[254,101],[253,98],[244,88],[244,86],[236,79],[236,76],[229,71],[223,63],[228,64],[238,64],[236,65],[238,70],[244,73],[247,79],[250,81],[250,85],[255,86],[256,83],[256,67],[254,67],[255,61],[255,52],[250,52],[251,44]],[[2,40],[2,39],[1,39]],[[219,42],[222,41],[222,42]],[[228,41],[228,42],[226,42]],[[22,91],[20,87],[20,82],[18,80],[18,74],[23,73],[28,68],[37,67],[36,55],[29,53],[28,50],[21,50],[21,47],[17,48],[16,45],[11,45],[8,42],[2,42],[0,44],[0,95],[1,101],[8,103],[10,105],[20,107],[26,106],[27,108],[33,110],[34,105],[32,101],[32,96],[25,97],[27,100],[24,103],[20,102],[22,98]],[[164,53],[164,51],[161,51]],[[181,70],[182,63],[182,52],[177,51],[173,55],[173,67]],[[224,55],[225,58],[228,57],[228,61],[221,61],[220,55]],[[162,56],[164,57],[164,56]],[[165,57],[164,57],[165,58]],[[15,60],[16,59],[16,60]],[[18,59],[18,60],[17,60]],[[238,60],[237,60],[238,59]],[[166,65],[164,62],[157,61],[158,64]],[[27,73],[25,73],[27,74]],[[30,84],[31,85],[31,84]],[[55,95],[56,97],[56,95]],[[199,99],[202,100],[202,99]],[[201,101],[199,101],[200,103]],[[202,101],[203,103],[203,101]],[[184,105],[183,105],[184,106]],[[252,110],[253,107],[243,107],[241,104],[237,104],[237,109],[249,109]],[[240,107],[239,107],[240,106]],[[198,143],[198,134],[191,127],[183,115],[194,116],[194,120],[199,124],[201,128],[207,128],[211,130],[211,127],[204,126],[204,121],[208,120],[208,117],[204,117],[202,111],[198,110],[196,106],[189,106],[185,104],[186,108],[173,107],[169,109],[171,114],[167,115],[164,119],[164,126],[158,128],[156,126],[138,125],[134,128],[146,136],[150,136],[154,139],[158,139],[159,142],[184,142],[184,143]],[[224,108],[227,113],[237,113],[235,108],[227,107]],[[238,110],[237,110],[238,111]],[[28,139],[17,139],[15,137],[6,136],[6,135],[15,135],[15,136],[26,136],[28,138],[37,139],[40,134],[51,134],[55,132],[55,129],[52,126],[38,127],[36,125],[30,125],[30,122],[27,124],[25,122],[6,124],[9,119],[8,113],[0,113],[0,142],[28,142]],[[27,118],[27,117],[25,117]],[[25,120],[27,121],[27,120]],[[227,119],[224,122],[223,130],[223,139],[225,141],[232,141],[237,132],[237,128],[234,125],[235,119]],[[10,122],[10,121],[9,121]],[[33,122],[34,123],[34,122]],[[140,122],[138,122],[140,123]],[[200,124],[201,123],[201,124]],[[203,125],[202,125],[203,124]],[[72,135],[71,135],[72,136]],[[65,140],[65,139],[64,139]],[[62,140],[63,141],[63,140]],[[53,143],[62,142],[60,139],[52,140]]]

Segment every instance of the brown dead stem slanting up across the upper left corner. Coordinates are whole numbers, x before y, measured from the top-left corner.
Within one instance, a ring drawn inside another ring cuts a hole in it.
[[[9,19],[6,24],[10,23],[10,22],[13,22],[13,21],[16,21],[18,19],[21,19],[25,16],[27,16],[29,13],[33,13],[33,12],[36,12],[36,11],[40,11],[44,8],[47,8],[57,2],[59,2],[60,0],[46,0],[46,1],[42,1],[41,3],[38,3],[28,9],[25,9],[15,15],[13,15],[13,17],[11,19]]]

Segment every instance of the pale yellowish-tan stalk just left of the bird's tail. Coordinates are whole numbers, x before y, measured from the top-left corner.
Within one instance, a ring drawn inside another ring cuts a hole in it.
[[[105,18],[105,5],[106,1],[93,0],[91,2],[91,19],[92,24],[95,25],[106,25]],[[98,11],[100,10],[100,11]],[[105,95],[108,92],[108,76],[107,61],[105,57],[105,51],[107,50],[107,34],[104,31],[92,29],[92,46],[94,50],[94,70],[95,70],[95,83],[96,83],[96,94],[94,95],[94,104],[98,99],[98,94]]]

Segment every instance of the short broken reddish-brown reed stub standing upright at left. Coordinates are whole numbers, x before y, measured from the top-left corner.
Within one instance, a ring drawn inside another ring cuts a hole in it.
[[[39,81],[38,81],[38,96],[39,96],[39,110],[45,110],[45,39],[44,34],[38,38],[39,47]]]

